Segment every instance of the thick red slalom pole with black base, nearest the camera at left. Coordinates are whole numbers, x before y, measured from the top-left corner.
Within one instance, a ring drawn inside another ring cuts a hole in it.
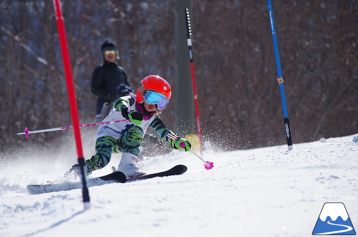
[[[54,10],[55,10],[58,37],[60,40],[60,46],[61,46],[61,52],[62,52],[63,66],[65,69],[67,93],[68,93],[68,98],[69,98],[69,102],[70,102],[72,124],[74,127],[74,133],[75,133],[78,164],[80,167],[79,170],[80,170],[80,177],[81,177],[81,181],[82,181],[83,207],[86,210],[86,209],[89,209],[91,205],[90,205],[90,198],[89,198],[89,193],[88,193],[88,188],[87,188],[87,183],[86,183],[86,173],[84,172],[85,163],[84,163],[83,151],[82,151],[81,133],[79,130],[79,118],[78,118],[75,86],[74,86],[74,80],[72,77],[70,54],[68,52],[65,23],[64,23],[63,16],[62,16],[62,8],[61,8],[60,0],[53,0],[53,6],[54,6]]]

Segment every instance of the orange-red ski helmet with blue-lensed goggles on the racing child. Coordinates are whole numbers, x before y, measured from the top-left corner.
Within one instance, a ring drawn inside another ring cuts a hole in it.
[[[167,107],[172,89],[167,81],[159,76],[147,76],[138,85],[137,102],[142,104],[156,104],[158,110]]]

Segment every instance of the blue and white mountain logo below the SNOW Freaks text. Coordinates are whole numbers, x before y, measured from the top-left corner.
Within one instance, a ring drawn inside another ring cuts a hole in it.
[[[341,202],[326,202],[312,235],[356,235],[347,209]]]

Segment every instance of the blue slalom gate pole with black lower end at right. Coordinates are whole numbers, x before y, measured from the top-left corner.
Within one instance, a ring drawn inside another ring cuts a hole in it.
[[[284,87],[283,87],[283,79],[282,79],[282,72],[281,72],[279,46],[277,44],[275,20],[274,20],[274,13],[273,13],[273,10],[272,10],[271,0],[267,0],[267,6],[268,6],[269,17],[270,17],[270,22],[271,22],[272,40],[274,42],[277,74],[278,74],[278,77],[279,77],[277,79],[277,81],[279,82],[279,85],[280,85],[281,102],[282,102],[282,110],[283,110],[283,120],[284,120],[284,129],[285,129],[285,133],[286,133],[286,137],[287,137],[288,150],[291,151],[291,150],[293,150],[292,136],[291,136],[290,122],[288,120],[286,98],[285,98],[285,95],[284,95]]]

